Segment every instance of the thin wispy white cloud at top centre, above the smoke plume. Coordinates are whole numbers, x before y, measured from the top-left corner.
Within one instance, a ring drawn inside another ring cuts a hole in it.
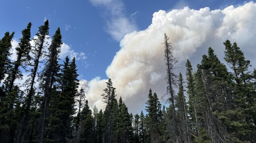
[[[115,40],[121,40],[126,34],[137,30],[134,22],[125,16],[124,4],[121,0],[90,0],[94,6],[103,7],[108,13],[107,32]]]

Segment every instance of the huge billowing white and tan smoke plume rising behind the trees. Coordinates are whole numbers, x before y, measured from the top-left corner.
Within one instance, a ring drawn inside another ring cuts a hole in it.
[[[201,8],[193,10],[185,7],[180,10],[153,14],[152,24],[146,30],[127,34],[120,42],[121,49],[106,69],[130,112],[144,109],[148,90],[161,97],[166,92],[164,63],[164,33],[170,37],[173,55],[179,63],[184,63],[193,55],[202,57],[200,50],[212,46],[216,52],[223,52],[226,39],[237,42],[250,60],[256,54],[256,4],[249,2],[243,6],[229,6],[224,10]],[[193,62],[193,61],[192,61]],[[184,65],[177,65],[183,66]],[[183,68],[185,70],[185,68]],[[178,73],[177,73],[178,74]],[[82,81],[87,88],[90,106],[104,107],[103,89],[106,79],[96,77],[92,81]]]

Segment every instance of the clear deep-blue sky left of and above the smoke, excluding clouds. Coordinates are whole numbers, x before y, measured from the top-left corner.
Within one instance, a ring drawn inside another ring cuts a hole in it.
[[[61,28],[62,41],[75,52],[84,52],[85,60],[77,61],[79,74],[90,80],[96,76],[107,78],[106,67],[120,49],[119,40],[107,32],[106,23],[111,16],[104,6],[94,6],[89,0],[1,0],[0,34],[15,31],[15,39],[21,38],[28,22],[32,22],[31,34],[35,35],[44,19],[50,20],[50,36],[57,27]],[[136,30],[146,29],[152,22],[152,14],[158,10],[173,8],[210,9],[222,8],[229,4],[243,4],[244,1],[227,0],[123,0],[123,14],[132,21]],[[134,15],[133,15],[134,14]],[[134,29],[135,30],[135,29]],[[1,37],[2,37],[1,36]]]

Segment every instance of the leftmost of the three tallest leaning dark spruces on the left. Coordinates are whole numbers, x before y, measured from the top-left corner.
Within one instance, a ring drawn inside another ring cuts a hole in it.
[[[5,95],[4,99],[2,99],[2,102],[5,103],[4,110],[1,111],[1,114],[4,116],[5,121],[2,121],[0,124],[5,124],[5,126],[9,129],[8,133],[10,137],[9,141],[5,142],[14,142],[15,141],[15,128],[20,120],[19,118],[16,120],[13,120],[15,116],[15,110],[17,107],[15,107],[15,103],[18,102],[19,96],[21,95],[19,87],[14,85],[15,79],[22,78],[21,71],[19,70],[20,66],[24,67],[24,62],[26,60],[29,60],[29,51],[31,49],[30,47],[30,28],[31,23],[27,25],[27,28],[22,30],[22,38],[20,38],[20,42],[18,46],[16,47],[17,50],[17,59],[13,63],[14,66],[10,68],[10,72],[8,73],[8,77],[5,80]],[[6,43],[7,44],[7,43]],[[15,87],[15,88],[14,88]],[[15,89],[12,91],[12,89]],[[7,95],[7,96],[6,96]],[[8,104],[6,104],[8,103]],[[9,114],[10,113],[10,114]],[[20,115],[19,115],[20,116]],[[2,119],[1,119],[2,120]],[[5,122],[5,123],[4,123]]]

